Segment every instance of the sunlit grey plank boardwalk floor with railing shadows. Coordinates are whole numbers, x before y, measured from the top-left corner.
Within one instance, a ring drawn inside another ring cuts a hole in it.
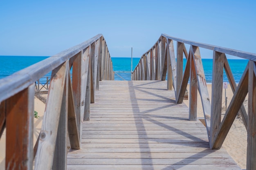
[[[68,170],[240,170],[165,81],[101,81]]]

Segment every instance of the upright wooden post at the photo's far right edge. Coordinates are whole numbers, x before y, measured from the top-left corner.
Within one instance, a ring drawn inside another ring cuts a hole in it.
[[[249,84],[248,84],[248,137],[247,137],[247,170],[256,169],[256,65],[249,61]]]

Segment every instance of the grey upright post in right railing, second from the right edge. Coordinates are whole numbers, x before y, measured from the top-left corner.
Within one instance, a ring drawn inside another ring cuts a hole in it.
[[[210,146],[221,122],[224,54],[213,51]]]

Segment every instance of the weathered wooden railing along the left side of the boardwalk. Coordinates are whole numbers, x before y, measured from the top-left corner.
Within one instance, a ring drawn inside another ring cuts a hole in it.
[[[70,69],[72,68],[72,80]],[[34,82],[52,71],[43,124],[33,153]],[[82,122],[100,80],[113,80],[108,46],[101,34],[0,79],[0,137],[6,127],[7,170],[65,170],[67,132],[81,146]],[[35,154],[36,153],[36,154]]]

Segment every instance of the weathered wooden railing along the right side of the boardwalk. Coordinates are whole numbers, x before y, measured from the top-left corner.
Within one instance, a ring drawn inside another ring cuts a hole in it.
[[[173,42],[177,42],[175,49]],[[189,51],[184,44],[190,45]],[[211,102],[200,55],[200,48],[213,51],[212,97]],[[238,86],[234,80],[226,54],[248,60],[247,67]],[[183,73],[183,55],[186,67]],[[177,62],[176,62],[177,58]],[[225,116],[221,119],[223,68],[234,93]],[[167,89],[175,91],[176,103],[182,103],[189,82],[189,119],[197,119],[197,92],[204,112],[209,144],[219,149],[238,114],[242,115],[248,133],[247,170],[256,169],[256,54],[227,49],[162,34],[153,47],[144,53],[132,72],[133,80],[165,80]],[[190,78],[190,79],[189,79]],[[248,94],[248,115],[243,101]]]

